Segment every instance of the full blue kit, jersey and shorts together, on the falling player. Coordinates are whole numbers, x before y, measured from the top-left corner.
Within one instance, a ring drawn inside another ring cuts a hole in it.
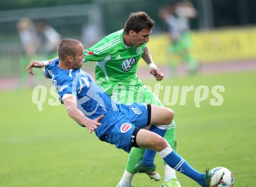
[[[45,67],[45,74],[52,78],[60,102],[72,94],[76,96],[77,107],[88,118],[94,119],[104,114],[99,121],[102,125],[98,126],[95,134],[102,141],[129,152],[134,125],[140,128],[147,125],[147,107],[141,103],[117,104],[86,72],[81,69],[62,70],[58,64],[59,60],[54,60]]]

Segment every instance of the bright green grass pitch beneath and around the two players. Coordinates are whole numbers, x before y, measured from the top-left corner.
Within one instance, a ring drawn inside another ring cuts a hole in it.
[[[150,75],[149,75],[150,76]],[[146,84],[157,83],[145,80]],[[234,186],[253,187],[256,176],[256,73],[195,75],[171,78],[162,85],[223,85],[222,106],[209,98],[195,107],[193,93],[175,110],[178,151],[197,170],[223,166],[234,175]],[[98,141],[94,134],[67,117],[63,106],[31,101],[31,90],[1,92],[0,186],[116,186],[128,154]],[[160,93],[162,99],[162,93]],[[51,95],[48,94],[48,98]],[[162,160],[157,170],[163,177]],[[183,186],[191,179],[177,174]],[[145,174],[134,177],[137,187],[160,186]]]

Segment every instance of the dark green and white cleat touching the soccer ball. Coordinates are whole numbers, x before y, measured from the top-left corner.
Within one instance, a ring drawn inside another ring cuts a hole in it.
[[[215,187],[221,182],[224,175],[223,171],[215,172],[214,174],[209,173],[209,169],[205,171],[205,185],[203,187]]]

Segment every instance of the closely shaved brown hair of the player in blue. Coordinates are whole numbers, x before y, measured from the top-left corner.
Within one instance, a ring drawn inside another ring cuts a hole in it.
[[[80,44],[80,41],[78,41],[77,39],[62,39],[57,49],[59,59],[65,60],[67,56],[75,56],[77,44]]]

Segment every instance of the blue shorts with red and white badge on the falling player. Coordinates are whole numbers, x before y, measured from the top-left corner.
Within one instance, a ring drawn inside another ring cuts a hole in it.
[[[151,116],[151,113],[150,113]],[[149,119],[150,120],[150,119]],[[111,113],[108,119],[111,130],[100,136],[102,141],[115,144],[116,148],[130,153],[133,131],[136,127],[143,128],[149,125],[147,105],[144,103],[131,103],[119,105],[119,110]]]

